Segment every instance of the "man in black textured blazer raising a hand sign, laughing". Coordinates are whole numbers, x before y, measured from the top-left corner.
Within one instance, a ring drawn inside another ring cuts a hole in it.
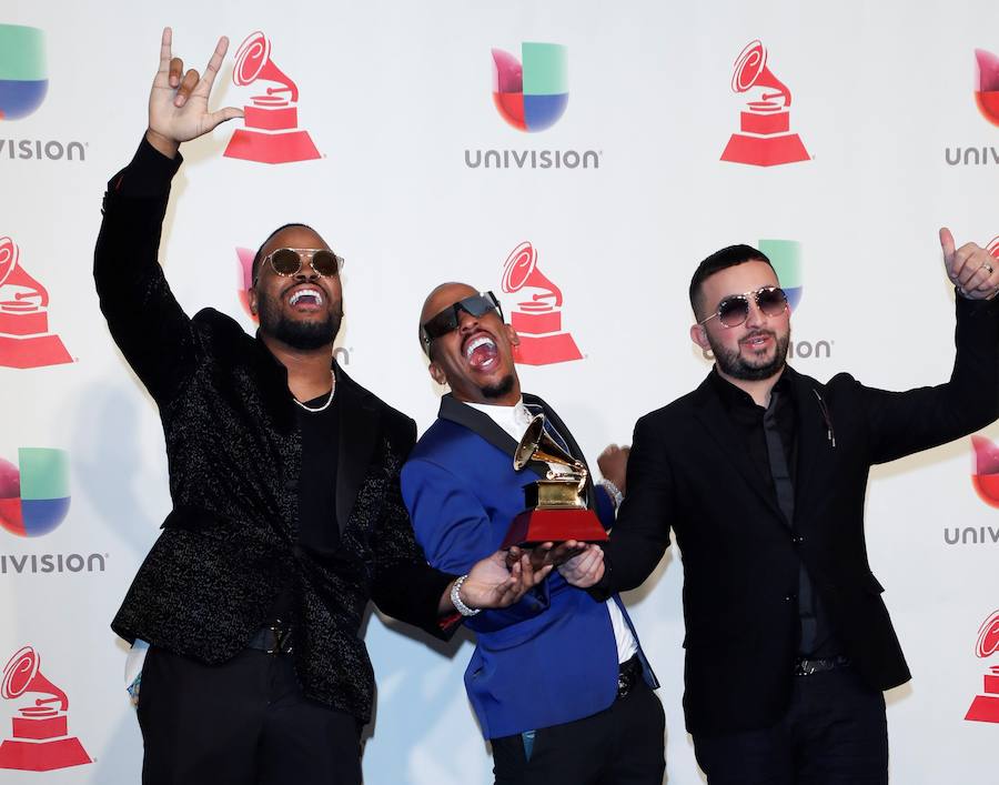
[[[258,252],[255,339],[174,300],[157,262],[170,181],[182,141],[241,113],[208,111],[226,44],[199,80],[164,31],[149,130],[104,198],[101,310],[160,409],[173,501],[112,626],[151,644],[144,783],[355,784],[369,600],[446,636],[456,608],[515,602],[551,567],[427,566],[398,487],[415,424],[331,362],[340,260],[313,230],[283,227]]]

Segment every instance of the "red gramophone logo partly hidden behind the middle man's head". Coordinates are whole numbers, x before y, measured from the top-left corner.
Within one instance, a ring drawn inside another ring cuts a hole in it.
[[[518,292],[523,298],[509,318],[521,336],[521,344],[514,348],[516,362],[548,365],[583,359],[573,336],[562,330],[562,291],[537,269],[537,251],[529,242],[511,252],[501,285],[504,292]]]

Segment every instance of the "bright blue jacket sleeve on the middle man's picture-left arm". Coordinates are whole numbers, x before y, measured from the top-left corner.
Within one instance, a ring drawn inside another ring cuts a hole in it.
[[[402,492],[416,540],[435,567],[463,575],[496,550],[492,522],[482,502],[445,467],[422,459],[407,462]],[[466,624],[476,632],[502,630],[547,607],[545,581],[509,607],[483,611]]]

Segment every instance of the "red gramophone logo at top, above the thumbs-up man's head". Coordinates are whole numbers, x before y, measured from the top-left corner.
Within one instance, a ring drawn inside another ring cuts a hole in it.
[[[767,50],[759,40],[747,44],[736,59],[731,89],[754,92],[739,114],[741,132],[731,134],[723,161],[776,167],[809,159],[801,138],[790,130],[790,90],[767,68]]]

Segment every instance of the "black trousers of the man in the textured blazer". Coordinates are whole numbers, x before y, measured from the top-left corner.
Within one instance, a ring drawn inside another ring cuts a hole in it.
[[[289,656],[204,665],[152,647],[142,668],[143,785],[360,785],[349,714],[302,695]]]

